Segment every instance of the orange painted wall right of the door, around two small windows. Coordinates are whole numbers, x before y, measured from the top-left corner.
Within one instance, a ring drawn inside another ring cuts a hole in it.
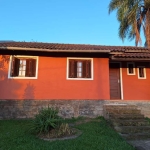
[[[146,79],[138,79],[138,71],[135,75],[127,75],[127,63],[122,63],[123,95],[124,100],[150,100],[150,67],[146,68]],[[149,63],[135,63],[135,66],[145,66]]]

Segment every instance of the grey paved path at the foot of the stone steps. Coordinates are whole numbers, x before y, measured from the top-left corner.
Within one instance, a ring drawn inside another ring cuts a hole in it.
[[[136,150],[150,150],[150,140],[134,140],[128,141]]]

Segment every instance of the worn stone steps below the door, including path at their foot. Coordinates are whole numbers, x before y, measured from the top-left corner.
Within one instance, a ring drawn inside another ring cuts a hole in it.
[[[104,117],[136,150],[150,150],[150,123],[137,106],[104,105]]]

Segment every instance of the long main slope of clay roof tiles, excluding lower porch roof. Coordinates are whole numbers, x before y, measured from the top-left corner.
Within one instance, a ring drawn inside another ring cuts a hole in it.
[[[132,50],[150,51],[149,48],[132,46],[105,46],[105,45],[86,45],[86,44],[58,44],[58,43],[39,43],[39,42],[0,42],[0,47],[23,47],[39,49],[61,49],[61,50],[110,50],[111,52],[125,52]]]

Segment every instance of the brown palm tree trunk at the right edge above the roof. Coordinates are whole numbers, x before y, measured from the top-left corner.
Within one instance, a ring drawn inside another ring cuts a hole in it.
[[[146,13],[146,43],[147,47],[150,48],[150,8]]]

